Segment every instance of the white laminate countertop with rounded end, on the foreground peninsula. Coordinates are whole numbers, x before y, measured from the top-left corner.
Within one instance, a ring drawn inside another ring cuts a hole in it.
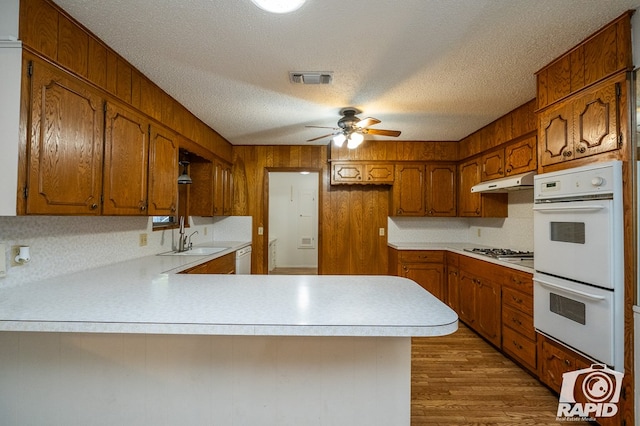
[[[176,273],[248,244],[0,289],[0,331],[408,337],[457,330],[456,313],[405,278]]]

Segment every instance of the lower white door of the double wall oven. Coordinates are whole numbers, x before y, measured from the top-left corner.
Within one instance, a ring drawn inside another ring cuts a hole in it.
[[[533,324],[607,365],[615,362],[613,291],[535,273]]]

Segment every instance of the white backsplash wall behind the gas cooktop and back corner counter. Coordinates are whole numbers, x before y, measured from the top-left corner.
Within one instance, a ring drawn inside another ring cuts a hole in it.
[[[390,217],[389,242],[478,245],[533,251],[533,190],[510,192],[507,218]]]

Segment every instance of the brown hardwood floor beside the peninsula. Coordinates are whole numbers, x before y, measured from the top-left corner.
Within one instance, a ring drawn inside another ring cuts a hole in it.
[[[411,363],[412,425],[562,424],[558,397],[462,323],[413,338]]]

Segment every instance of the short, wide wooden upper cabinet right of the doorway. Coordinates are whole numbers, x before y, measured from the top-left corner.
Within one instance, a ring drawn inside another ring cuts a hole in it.
[[[394,165],[359,161],[331,163],[331,184],[389,185],[394,182]]]

